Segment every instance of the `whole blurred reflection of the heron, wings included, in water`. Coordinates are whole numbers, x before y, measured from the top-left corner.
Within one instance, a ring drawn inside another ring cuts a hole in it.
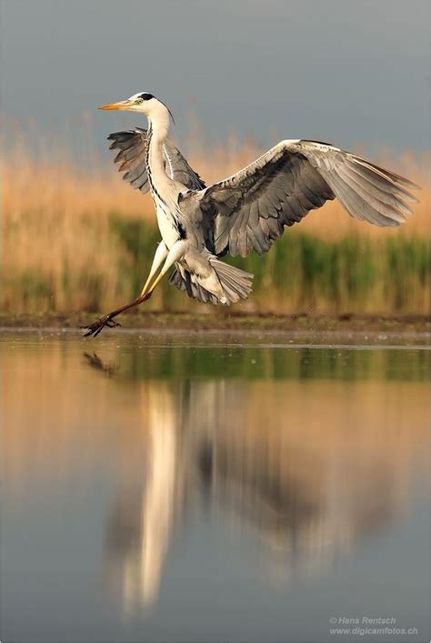
[[[135,467],[127,457],[107,527],[106,569],[121,576],[126,608],[154,602],[175,526],[202,502],[236,530],[255,533],[269,567],[284,570],[285,578],[321,568],[390,519],[386,477],[378,497],[367,494],[362,474],[355,477],[352,506],[340,492],[346,480],[337,468],[328,476],[302,447],[286,447],[286,422],[278,431],[258,431],[256,440],[246,427],[253,420],[244,416],[253,397],[246,382],[146,380],[140,386],[145,417],[135,436],[142,451],[134,444]]]

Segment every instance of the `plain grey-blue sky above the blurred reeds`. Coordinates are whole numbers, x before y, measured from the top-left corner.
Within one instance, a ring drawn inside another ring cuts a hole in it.
[[[2,114],[37,131],[91,115],[96,146],[145,90],[205,136],[430,147],[428,0],[0,0]],[[7,119],[6,119],[7,123]]]

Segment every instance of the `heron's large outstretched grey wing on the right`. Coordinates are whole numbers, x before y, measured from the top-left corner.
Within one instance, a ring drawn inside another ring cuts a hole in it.
[[[419,186],[359,156],[316,141],[282,141],[254,163],[198,196],[217,255],[263,254],[285,226],[328,199],[376,226],[399,226]]]

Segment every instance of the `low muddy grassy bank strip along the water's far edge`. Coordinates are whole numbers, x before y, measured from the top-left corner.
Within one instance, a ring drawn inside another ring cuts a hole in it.
[[[211,308],[209,309],[211,311]],[[94,321],[101,313],[43,313],[38,315],[0,313],[0,336],[10,337],[15,329],[50,334],[64,329],[83,334],[81,327]],[[402,343],[423,346],[431,337],[429,316],[373,316],[373,315],[253,315],[226,312],[220,309],[216,315],[186,313],[145,312],[144,307],[121,316],[122,327],[104,331],[105,339],[117,333],[134,331],[142,341],[150,341],[155,333],[163,337],[235,337],[236,341],[280,337],[283,342],[324,342],[330,339],[341,343],[362,342],[368,344]],[[167,341],[170,341],[168,339]],[[87,340],[92,342],[92,339]]]

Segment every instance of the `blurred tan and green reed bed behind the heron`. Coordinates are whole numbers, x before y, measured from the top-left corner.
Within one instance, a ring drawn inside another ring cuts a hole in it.
[[[64,143],[35,153],[19,128],[14,135],[2,158],[2,309],[98,312],[134,296],[159,238],[151,199],[132,191],[93,148],[83,169]],[[183,148],[207,182],[228,176],[263,151],[253,140],[233,136],[220,145],[205,142],[205,149],[191,136]],[[368,226],[347,216],[337,202],[328,203],[286,230],[266,256],[235,260],[256,275],[255,292],[240,307],[285,313],[428,312],[431,155],[386,150],[376,160],[423,186],[406,225]],[[145,306],[214,311],[167,283]]]

